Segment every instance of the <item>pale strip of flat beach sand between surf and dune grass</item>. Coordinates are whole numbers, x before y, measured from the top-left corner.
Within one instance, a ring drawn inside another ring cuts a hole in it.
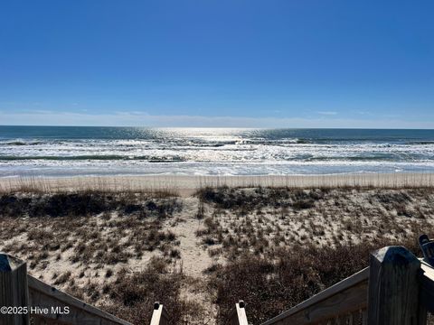
[[[415,188],[434,187],[434,173],[361,173],[324,175],[250,175],[250,176],[74,176],[0,178],[0,191],[176,191],[192,195],[204,187],[288,187],[288,188]]]

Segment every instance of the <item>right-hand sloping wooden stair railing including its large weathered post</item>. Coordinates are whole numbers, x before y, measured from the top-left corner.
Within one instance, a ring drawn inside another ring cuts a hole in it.
[[[371,255],[370,266],[261,325],[425,325],[434,311],[434,269],[402,246]]]

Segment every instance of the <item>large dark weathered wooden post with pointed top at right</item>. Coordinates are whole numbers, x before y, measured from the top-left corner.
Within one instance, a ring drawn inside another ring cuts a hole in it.
[[[421,325],[419,274],[420,260],[402,246],[374,252],[370,259],[368,324]]]

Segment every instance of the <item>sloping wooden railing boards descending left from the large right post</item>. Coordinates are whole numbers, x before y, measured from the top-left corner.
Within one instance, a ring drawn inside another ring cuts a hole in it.
[[[369,268],[319,292],[262,325],[312,324],[366,308]]]

